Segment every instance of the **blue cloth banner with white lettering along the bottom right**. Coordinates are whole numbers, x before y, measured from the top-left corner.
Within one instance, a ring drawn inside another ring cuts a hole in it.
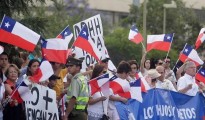
[[[115,106],[121,120],[203,120],[205,98],[156,88],[144,94],[142,103],[130,99]]]

